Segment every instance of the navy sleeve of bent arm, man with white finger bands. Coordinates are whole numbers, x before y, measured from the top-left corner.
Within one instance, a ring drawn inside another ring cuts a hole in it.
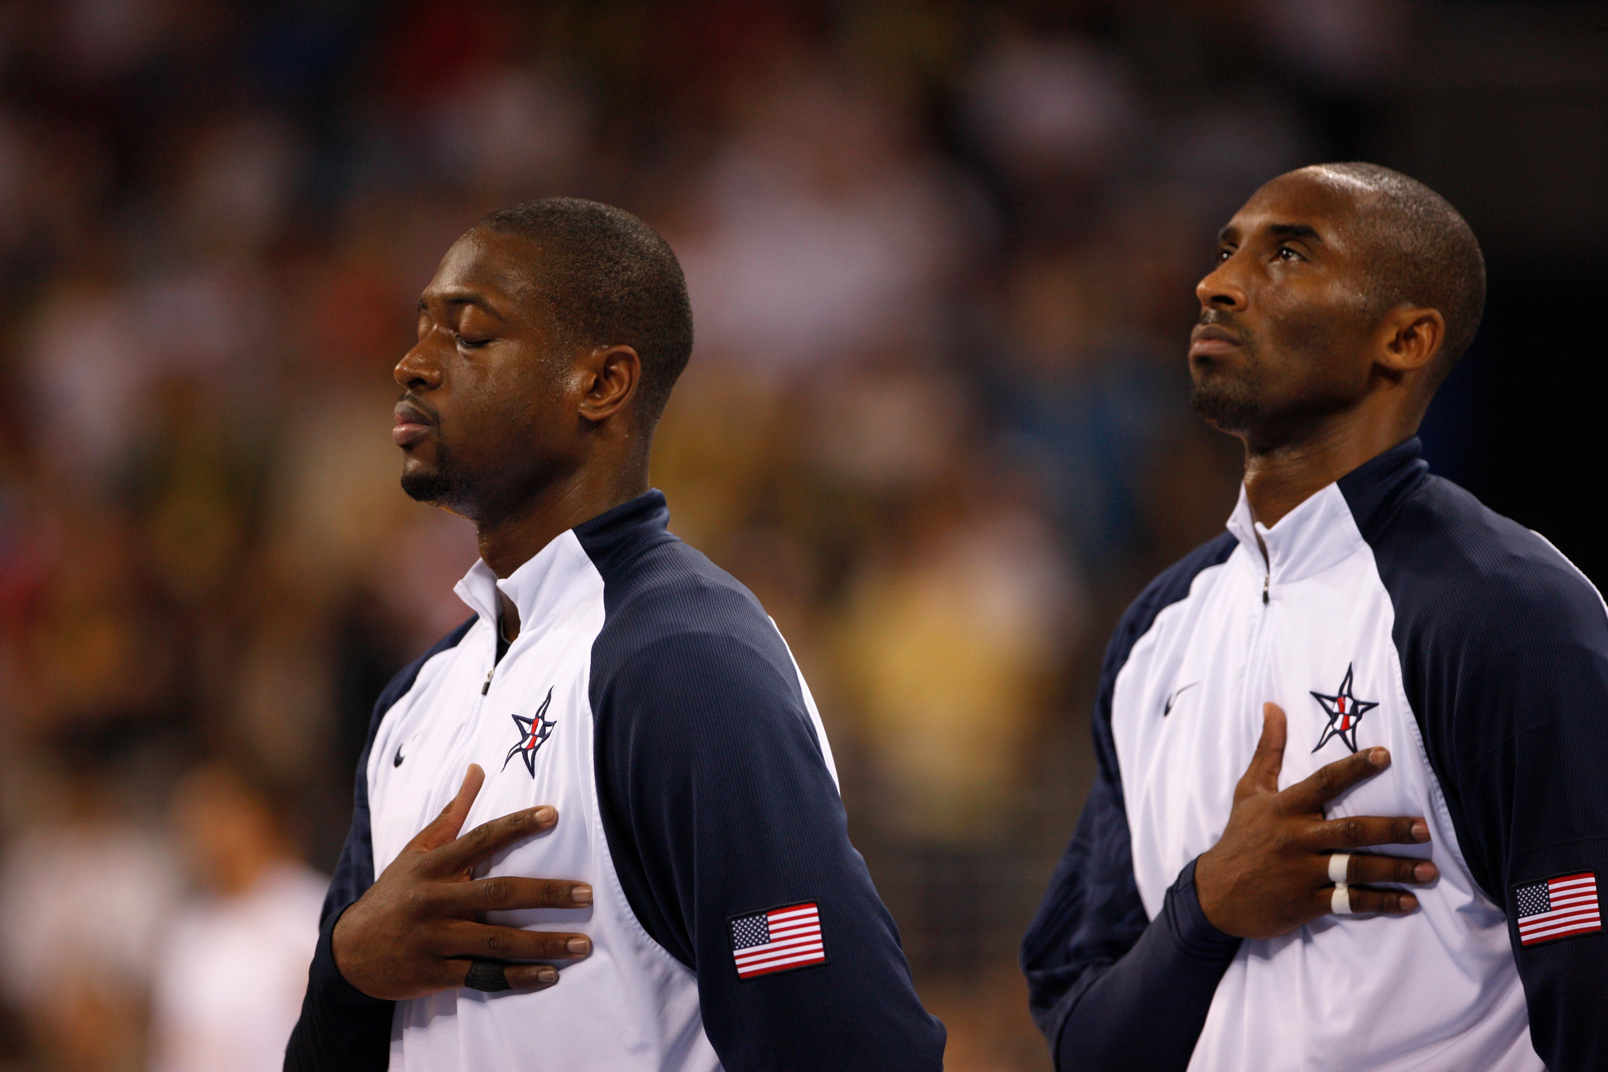
[[[1217,931],[1179,874],[1155,919],[1134,881],[1122,776],[1111,738],[1116,675],[1163,608],[1200,571],[1229,558],[1227,534],[1196,548],[1134,601],[1111,636],[1095,696],[1095,784],[1073,842],[1021,945],[1034,1022],[1056,1067],[1124,1072],[1185,1069],[1240,939]]]

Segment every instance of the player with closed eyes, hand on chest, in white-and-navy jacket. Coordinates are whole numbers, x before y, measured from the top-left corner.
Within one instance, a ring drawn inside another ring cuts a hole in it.
[[[942,1066],[786,644],[648,489],[690,352],[675,256],[590,201],[425,289],[392,434],[474,616],[375,707],[288,1069]]]

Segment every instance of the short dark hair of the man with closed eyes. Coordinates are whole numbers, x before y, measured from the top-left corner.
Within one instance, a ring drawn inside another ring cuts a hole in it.
[[[653,428],[693,352],[693,307],[671,244],[630,212],[580,198],[526,201],[474,227],[540,248],[539,288],[564,342],[637,350],[637,413]]]

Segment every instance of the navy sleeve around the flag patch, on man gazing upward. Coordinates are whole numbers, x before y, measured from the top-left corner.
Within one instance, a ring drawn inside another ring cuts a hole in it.
[[[1536,534],[1409,477],[1352,501],[1391,593],[1407,699],[1468,869],[1507,911],[1536,1053],[1552,1072],[1603,1069],[1608,937],[1524,945],[1516,890],[1608,878],[1608,612]]]

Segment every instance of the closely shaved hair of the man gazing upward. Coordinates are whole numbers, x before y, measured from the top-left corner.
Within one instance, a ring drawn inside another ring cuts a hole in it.
[[[1383,317],[1410,302],[1446,318],[1433,370],[1433,383],[1441,383],[1475,341],[1486,307],[1486,259],[1475,231],[1446,198],[1389,167],[1360,161],[1315,167],[1373,194],[1365,206],[1373,312]]]

